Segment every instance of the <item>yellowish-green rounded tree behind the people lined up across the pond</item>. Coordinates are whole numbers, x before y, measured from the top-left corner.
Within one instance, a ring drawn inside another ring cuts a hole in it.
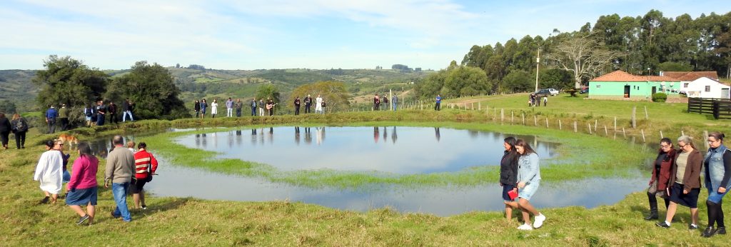
[[[346,110],[350,105],[350,102],[348,101],[350,93],[348,93],[345,89],[345,85],[343,83],[336,81],[321,81],[295,88],[295,91],[292,91],[292,95],[289,96],[287,108],[294,109],[294,102],[298,96],[304,106],[304,100],[307,95],[312,96],[313,100],[318,95],[322,96],[322,99],[324,99],[327,103],[327,107],[333,111]]]

